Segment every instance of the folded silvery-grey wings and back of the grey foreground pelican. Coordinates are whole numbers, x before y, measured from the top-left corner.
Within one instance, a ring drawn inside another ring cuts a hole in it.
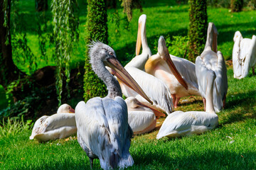
[[[119,101],[122,101],[119,103]],[[126,112],[125,112],[126,111]],[[133,164],[129,153],[132,130],[128,126],[127,106],[122,98],[92,98],[87,103],[80,101],[75,108],[78,136],[83,149],[89,150],[100,159],[103,169],[111,166],[129,166],[122,159]],[[124,148],[127,149],[124,151]]]

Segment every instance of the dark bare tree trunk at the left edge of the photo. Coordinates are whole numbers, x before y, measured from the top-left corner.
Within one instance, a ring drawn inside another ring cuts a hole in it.
[[[6,11],[6,26],[4,26],[4,13]],[[6,86],[16,79],[20,71],[12,60],[11,33],[10,33],[11,0],[7,1],[4,9],[4,0],[0,0],[0,84]]]

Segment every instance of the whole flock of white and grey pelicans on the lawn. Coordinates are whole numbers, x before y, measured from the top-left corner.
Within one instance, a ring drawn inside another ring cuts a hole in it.
[[[216,113],[225,106],[228,91],[227,68],[217,50],[217,35],[217,28],[209,23],[206,46],[196,64],[170,55],[163,36],[158,52],[152,55],[146,40],[146,15],[139,17],[136,57],[125,67],[110,46],[92,42],[90,64],[106,84],[107,96],[80,101],[75,111],[67,104],[60,106],[56,114],[36,121],[30,139],[46,142],[77,132],[91,168],[93,160],[100,159],[102,169],[123,169],[134,164],[129,153],[132,135],[154,130],[160,117],[167,115],[158,140],[212,130],[218,125]],[[242,79],[250,68],[254,74],[256,37],[243,39],[237,31],[234,42],[234,77]],[[181,97],[191,95],[202,96],[205,111],[174,111]]]

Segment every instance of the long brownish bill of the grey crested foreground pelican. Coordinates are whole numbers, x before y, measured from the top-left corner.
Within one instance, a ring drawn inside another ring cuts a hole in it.
[[[137,82],[132,78],[132,76],[122,67],[122,64],[115,58],[110,57],[107,59],[107,66],[114,69],[114,75],[121,78],[125,84],[127,84],[129,87],[131,87],[134,91],[137,91],[137,93],[144,97],[146,101],[149,101],[149,103],[153,103],[148,96],[146,96],[145,92],[142,90],[142,88],[137,84]]]

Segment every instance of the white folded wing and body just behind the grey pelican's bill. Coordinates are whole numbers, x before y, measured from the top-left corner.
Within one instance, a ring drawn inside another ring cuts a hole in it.
[[[127,69],[127,72],[129,72],[139,86],[142,87],[143,91],[149,96],[151,101],[153,101],[153,106],[161,109],[161,111],[164,111],[167,114],[170,114],[174,110],[171,93],[163,81],[134,67],[125,67],[125,69]],[[149,104],[148,101],[128,86],[122,84],[121,88],[124,96],[134,96],[138,101]]]

